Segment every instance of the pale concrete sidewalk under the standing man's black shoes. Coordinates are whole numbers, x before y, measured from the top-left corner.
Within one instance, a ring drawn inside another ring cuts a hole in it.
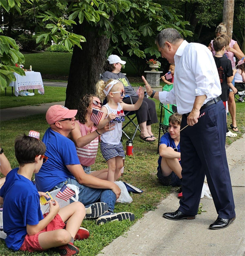
[[[170,221],[164,212],[179,207],[177,193],[163,200],[116,238],[98,256],[244,256],[245,255],[245,135],[227,150],[236,205],[236,220],[226,229],[211,230],[217,218],[212,199],[201,199],[206,212],[195,220]]]

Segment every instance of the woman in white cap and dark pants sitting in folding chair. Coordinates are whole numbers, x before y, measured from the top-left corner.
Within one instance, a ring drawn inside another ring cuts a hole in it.
[[[105,72],[101,75],[101,79],[103,81],[108,81],[109,79],[118,79],[122,81],[125,94],[129,95],[133,101],[133,104],[135,104],[135,102],[138,101],[138,95],[135,93],[135,90],[129,83],[127,77],[121,73],[122,65],[125,63],[126,61],[122,61],[117,55],[110,55],[106,60],[106,64],[104,66]],[[129,97],[125,97],[123,102],[131,104]],[[147,142],[155,141],[156,138],[151,131],[151,125],[158,122],[155,102],[144,97],[141,107],[135,111],[135,114],[141,128],[140,138]]]

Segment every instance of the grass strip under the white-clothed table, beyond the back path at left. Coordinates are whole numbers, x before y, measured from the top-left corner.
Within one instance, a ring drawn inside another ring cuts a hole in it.
[[[16,97],[14,94],[12,96],[11,87],[8,87],[6,96],[5,91],[0,91],[0,109],[65,101],[66,88],[45,86],[44,89],[44,95],[39,94],[38,90],[35,90],[34,96]],[[30,90],[30,92],[32,92],[32,90]]]

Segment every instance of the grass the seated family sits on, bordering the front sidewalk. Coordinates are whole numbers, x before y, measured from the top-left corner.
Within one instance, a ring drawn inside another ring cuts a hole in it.
[[[160,110],[158,108],[159,103],[156,102],[156,108],[158,116]],[[240,138],[245,133],[245,103],[237,103],[237,120],[239,133],[236,138],[227,138],[227,143],[231,144],[232,141]],[[228,117],[228,126],[231,123],[230,116]],[[41,137],[43,137],[45,130],[48,125],[45,122],[45,115],[34,115],[26,118],[21,118],[14,121],[3,121],[1,122],[0,132],[0,145],[4,148],[5,154],[9,159],[11,166],[17,167],[17,162],[14,157],[14,139],[16,135],[28,133],[29,130],[39,131]],[[128,126],[127,132],[130,133]],[[158,135],[158,124],[153,125],[153,132]],[[126,138],[123,136],[123,146],[125,148]],[[116,204],[115,212],[119,211],[130,211],[135,214],[135,218],[142,218],[143,214],[148,210],[154,210],[157,203],[164,199],[171,191],[175,191],[171,187],[161,186],[156,178],[157,168],[157,141],[155,142],[144,142],[139,139],[139,134],[136,135],[134,140],[134,155],[126,156],[124,175],[121,177],[122,181],[129,182],[136,187],[139,187],[144,192],[142,194],[132,194],[133,202],[130,204]],[[106,162],[104,161],[100,152],[96,159],[96,163],[92,169],[105,168]],[[176,194],[177,196],[177,194]],[[133,225],[132,222],[110,222],[102,226],[97,226],[95,221],[84,220],[82,226],[90,230],[90,237],[84,241],[77,241],[77,245],[80,249],[80,254],[83,256],[95,256],[103,249],[104,246],[108,245],[113,239],[121,236],[129,227]],[[16,256],[27,256],[30,253],[16,252],[6,248],[3,241],[0,241],[0,255],[16,255]],[[57,255],[53,251],[47,251],[45,253],[33,253],[32,255]]]

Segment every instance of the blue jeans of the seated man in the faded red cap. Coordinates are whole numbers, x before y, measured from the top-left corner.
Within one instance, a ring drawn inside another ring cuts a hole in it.
[[[95,202],[105,202],[109,206],[109,211],[113,212],[116,203],[116,194],[110,189],[93,189],[84,186],[75,179],[68,178],[66,181],[59,183],[55,188],[59,189],[63,185],[73,184],[79,189],[79,202],[82,202],[85,207]]]

